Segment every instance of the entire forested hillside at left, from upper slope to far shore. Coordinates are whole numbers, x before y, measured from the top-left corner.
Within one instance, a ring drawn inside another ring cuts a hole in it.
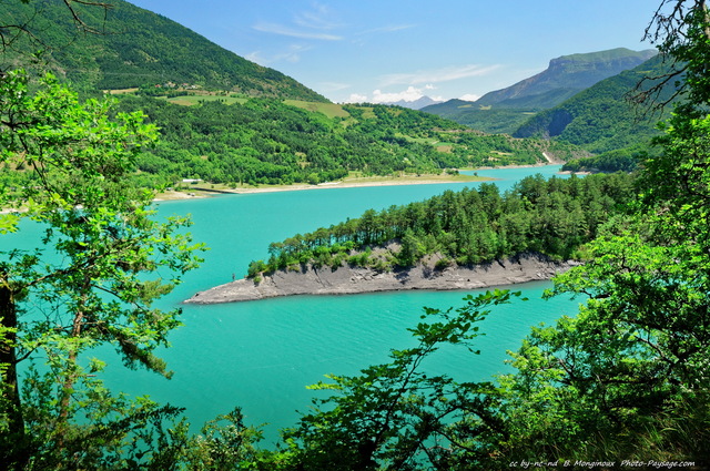
[[[183,178],[233,187],[317,184],[353,172],[440,174],[584,155],[566,144],[484,135],[402,107],[326,103],[292,79],[128,2],[71,4],[80,24],[59,0],[10,2],[9,21],[31,21],[26,34],[3,35],[12,40],[2,59],[24,61],[30,72],[54,69],[88,94],[97,86],[138,88],[116,95],[120,110],[142,111],[162,137],[138,157],[139,186],[173,186]],[[77,34],[78,25],[101,33]],[[29,61],[32,47],[45,48],[41,61]],[[2,170],[0,178],[13,188],[32,175],[22,166]]]

